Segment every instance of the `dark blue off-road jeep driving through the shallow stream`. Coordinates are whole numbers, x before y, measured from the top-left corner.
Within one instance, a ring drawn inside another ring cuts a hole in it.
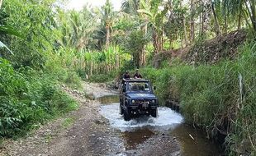
[[[120,87],[120,113],[125,121],[131,117],[151,115],[157,117],[159,102],[149,80],[128,79]]]

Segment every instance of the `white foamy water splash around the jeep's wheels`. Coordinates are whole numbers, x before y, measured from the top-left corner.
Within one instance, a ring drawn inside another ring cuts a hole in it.
[[[100,113],[109,120],[112,127],[121,131],[135,131],[141,127],[148,127],[154,129],[154,131],[163,131],[174,128],[183,122],[182,115],[166,107],[159,107],[159,116],[156,118],[139,117],[129,122],[126,122],[119,114],[119,103],[102,105]]]

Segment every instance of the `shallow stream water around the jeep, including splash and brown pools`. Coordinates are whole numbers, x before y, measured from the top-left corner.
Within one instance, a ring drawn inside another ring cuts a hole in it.
[[[220,155],[218,145],[207,140],[203,131],[187,126],[183,116],[170,108],[159,107],[159,116],[156,118],[139,117],[126,122],[119,114],[118,96],[105,96],[98,100],[102,103],[102,116],[109,120],[110,126],[121,131],[126,150],[136,149],[137,145],[156,134],[168,133],[177,138],[182,149],[181,155]]]

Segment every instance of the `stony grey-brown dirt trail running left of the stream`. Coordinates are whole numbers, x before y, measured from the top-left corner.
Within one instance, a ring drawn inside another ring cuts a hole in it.
[[[115,94],[98,84],[83,83],[83,88],[96,98]],[[121,132],[99,114],[97,100],[86,99],[66,87],[64,90],[80,103],[78,110],[40,126],[26,138],[5,140],[0,155],[180,155],[177,141],[164,134],[126,150]]]

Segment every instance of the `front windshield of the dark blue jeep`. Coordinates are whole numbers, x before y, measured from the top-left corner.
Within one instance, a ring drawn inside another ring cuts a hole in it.
[[[128,91],[150,92],[149,82],[129,82]]]

